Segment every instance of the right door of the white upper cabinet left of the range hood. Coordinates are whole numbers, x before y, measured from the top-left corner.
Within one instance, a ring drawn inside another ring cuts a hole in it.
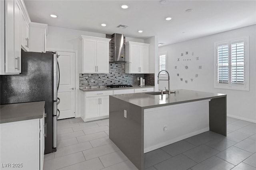
[[[109,73],[109,41],[97,40],[97,72]]]

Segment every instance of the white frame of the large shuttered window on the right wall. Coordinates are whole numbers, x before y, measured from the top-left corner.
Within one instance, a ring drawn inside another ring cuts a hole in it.
[[[244,42],[244,84],[232,84],[231,44],[234,41]],[[228,83],[218,83],[218,45],[228,44]],[[219,41],[214,43],[214,88],[249,91],[249,36]]]

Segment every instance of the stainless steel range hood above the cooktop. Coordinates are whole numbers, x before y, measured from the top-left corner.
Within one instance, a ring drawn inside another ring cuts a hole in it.
[[[114,41],[114,61],[110,63],[127,63],[124,57],[124,35],[114,33],[112,35],[112,41]]]

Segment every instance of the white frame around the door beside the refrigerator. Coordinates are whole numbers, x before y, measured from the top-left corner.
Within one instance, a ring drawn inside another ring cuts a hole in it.
[[[75,117],[81,117],[78,112],[78,90],[79,90],[79,74],[78,74],[78,51],[72,49],[56,49],[56,48],[47,48],[47,51],[62,51],[62,52],[71,52],[75,53]]]

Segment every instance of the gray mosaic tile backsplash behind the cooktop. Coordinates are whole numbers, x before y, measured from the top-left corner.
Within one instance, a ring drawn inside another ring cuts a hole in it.
[[[145,78],[146,85],[154,86],[154,74],[125,74],[124,63],[109,63],[109,74],[79,74],[79,87],[97,87],[110,84],[139,85],[137,77]]]

